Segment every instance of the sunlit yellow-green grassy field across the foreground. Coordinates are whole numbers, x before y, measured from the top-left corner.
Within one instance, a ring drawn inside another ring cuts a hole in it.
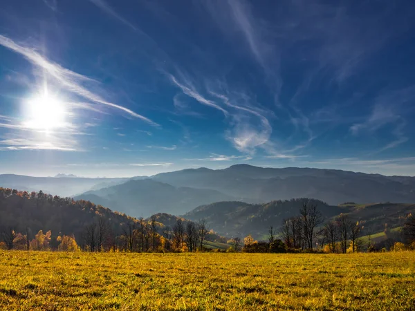
[[[415,310],[415,252],[0,251],[0,310]]]

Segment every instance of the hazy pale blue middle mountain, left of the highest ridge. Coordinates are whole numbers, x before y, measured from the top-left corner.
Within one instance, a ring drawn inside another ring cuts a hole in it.
[[[184,214],[201,204],[233,198],[216,190],[174,187],[164,182],[145,179],[129,180],[122,185],[88,191],[75,199],[92,200],[131,216],[147,217],[159,212]]]

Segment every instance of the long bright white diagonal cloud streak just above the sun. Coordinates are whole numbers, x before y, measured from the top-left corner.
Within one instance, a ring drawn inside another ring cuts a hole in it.
[[[75,73],[71,70],[68,70],[60,66],[59,64],[50,62],[45,57],[42,57],[42,55],[39,55],[39,53],[37,53],[35,49],[16,44],[15,41],[12,41],[12,39],[4,37],[3,35],[0,35],[0,45],[14,51],[15,53],[19,53],[33,65],[42,68],[45,73],[48,73],[48,75],[50,75],[50,77],[55,78],[55,80],[59,82],[59,86],[66,89],[66,91],[74,93],[75,95],[78,95],[80,97],[84,97],[84,99],[94,102],[95,104],[102,104],[104,106],[110,106],[111,108],[123,111],[124,113],[127,113],[132,117],[137,117],[138,119],[143,120],[153,126],[159,125],[156,122],[150,120],[149,118],[144,117],[143,115],[139,115],[138,113],[135,113],[134,111],[131,111],[130,109],[124,106],[108,102],[104,100],[100,95],[93,93],[92,91],[89,91],[82,85],[82,83],[96,82],[95,80],[89,77],[85,77],[84,75],[80,75],[79,73]]]

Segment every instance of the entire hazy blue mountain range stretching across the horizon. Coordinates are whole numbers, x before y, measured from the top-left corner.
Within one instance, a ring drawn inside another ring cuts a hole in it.
[[[184,169],[134,178],[44,178],[0,175],[0,187],[75,196],[147,217],[158,212],[185,214],[219,201],[265,203],[314,198],[342,202],[415,202],[415,177],[382,176],[334,169],[282,169],[237,164],[227,169]]]

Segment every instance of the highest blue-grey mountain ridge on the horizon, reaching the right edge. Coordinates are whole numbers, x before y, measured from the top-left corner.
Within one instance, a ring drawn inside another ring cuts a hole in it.
[[[344,201],[415,202],[412,177],[382,176],[332,169],[284,169],[234,165],[228,169],[185,169],[153,176],[176,187],[215,189],[247,202],[316,198],[331,205]]]

